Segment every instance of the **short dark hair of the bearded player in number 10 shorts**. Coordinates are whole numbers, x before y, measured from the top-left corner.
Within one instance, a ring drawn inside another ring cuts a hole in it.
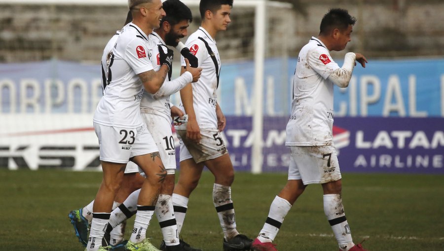
[[[162,26],[165,21],[172,26],[178,24],[182,20],[188,20],[190,23],[193,21],[191,10],[180,0],[164,1],[163,10],[165,10],[166,16],[162,18],[160,26]]]

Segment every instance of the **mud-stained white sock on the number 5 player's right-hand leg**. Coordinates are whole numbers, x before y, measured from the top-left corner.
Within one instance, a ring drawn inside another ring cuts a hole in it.
[[[231,188],[214,184],[213,186],[213,203],[218,212],[219,221],[225,240],[231,239],[238,235],[236,230],[236,218],[234,215],[233,201],[231,200]]]

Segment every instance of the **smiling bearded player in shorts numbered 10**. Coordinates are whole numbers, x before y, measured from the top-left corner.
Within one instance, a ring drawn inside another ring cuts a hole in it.
[[[161,67],[158,61],[160,52],[167,50],[166,45],[176,47],[180,39],[187,35],[189,22],[192,21],[191,10],[180,0],[166,0],[163,2],[163,8],[166,12],[166,16],[162,18],[160,28],[155,29],[149,35],[150,46],[148,48],[148,54],[151,55],[150,60],[154,65],[154,70],[159,70]],[[187,48],[182,50],[182,54],[195,63],[195,56],[190,54]],[[142,118],[159,148],[160,158],[162,159],[168,174],[160,189],[159,199],[155,208],[155,214],[159,221],[164,239],[160,248],[161,250],[198,251],[189,247],[189,245],[183,240],[179,240],[177,234],[176,219],[174,217],[171,196],[174,189],[176,157],[171,130],[172,119],[170,114],[172,111],[170,110],[171,104],[169,98],[171,94],[178,92],[189,82],[196,82],[200,77],[201,70],[201,68],[190,67],[188,59],[186,59],[186,74],[182,74],[179,78],[172,81],[169,81],[169,79],[165,80],[165,83],[155,94],[144,92],[141,100]],[[183,115],[181,110],[178,112],[180,114],[176,115]],[[134,164],[131,164],[131,162],[128,163],[127,168],[131,165]],[[132,216],[135,211],[135,198],[137,198],[139,192],[140,190],[135,191],[122,205],[111,213],[108,231],[123,220]],[[146,231],[146,229],[143,231]],[[139,229],[134,229],[133,233],[134,232],[139,232]],[[133,235],[128,242],[129,244],[126,244],[127,249],[130,250],[132,250],[130,244],[135,241],[133,240]]]

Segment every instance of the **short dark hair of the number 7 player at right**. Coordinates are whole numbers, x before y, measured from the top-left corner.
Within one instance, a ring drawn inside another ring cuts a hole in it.
[[[355,25],[356,18],[350,16],[346,9],[330,9],[324,15],[321,21],[320,34],[329,34],[334,29],[341,31],[348,28],[349,25]]]

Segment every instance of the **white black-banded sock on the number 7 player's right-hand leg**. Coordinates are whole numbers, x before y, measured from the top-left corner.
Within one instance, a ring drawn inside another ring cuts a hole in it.
[[[341,251],[348,251],[355,246],[351,237],[350,226],[345,218],[340,194],[324,195],[324,212],[332,226],[339,249]]]

